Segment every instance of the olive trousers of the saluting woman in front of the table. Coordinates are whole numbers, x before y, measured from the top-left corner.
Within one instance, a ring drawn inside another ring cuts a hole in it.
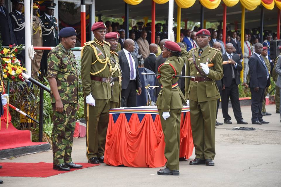
[[[179,144],[181,128],[181,109],[171,109],[170,117],[162,117],[162,110],[158,109],[165,140],[166,167],[170,170],[179,170]]]

